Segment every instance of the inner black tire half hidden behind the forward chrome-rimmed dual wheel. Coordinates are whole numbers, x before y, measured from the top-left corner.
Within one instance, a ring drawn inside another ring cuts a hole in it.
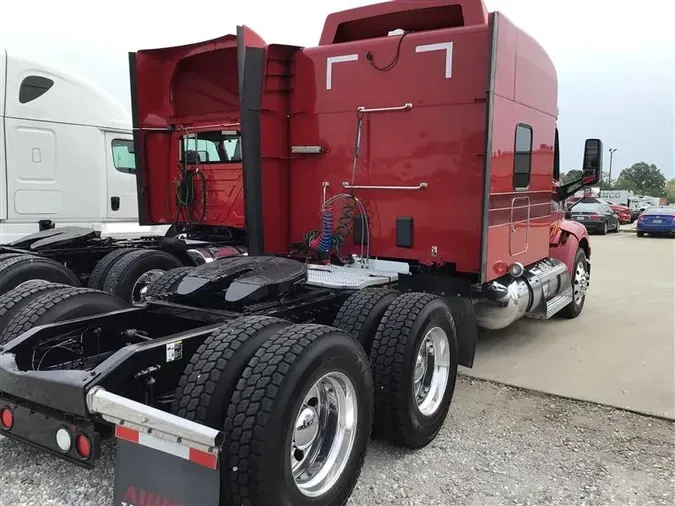
[[[380,320],[399,295],[398,290],[382,288],[359,290],[342,304],[333,326],[353,335],[361,342],[366,353],[370,353]]]

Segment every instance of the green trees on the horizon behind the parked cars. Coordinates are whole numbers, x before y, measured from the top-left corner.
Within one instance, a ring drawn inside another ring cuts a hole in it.
[[[668,202],[675,204],[675,178],[667,180],[653,163],[634,163],[623,169],[611,184],[607,176],[607,173],[603,173],[598,183],[601,190],[630,190],[636,195],[666,197]],[[564,174],[562,179],[563,183],[567,183],[580,177],[581,171],[573,169]]]

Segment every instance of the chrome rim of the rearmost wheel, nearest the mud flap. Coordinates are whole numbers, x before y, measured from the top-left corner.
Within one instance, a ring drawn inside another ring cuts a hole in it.
[[[294,418],[291,470],[307,497],[326,494],[340,479],[354,447],[358,399],[352,381],[330,372],[314,383]]]

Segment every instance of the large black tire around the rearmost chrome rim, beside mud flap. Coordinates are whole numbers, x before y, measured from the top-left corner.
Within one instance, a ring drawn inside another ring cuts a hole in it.
[[[310,498],[296,484],[289,456],[305,396],[326,374],[343,375],[354,387],[357,420],[353,445],[335,483]],[[346,504],[363,467],[372,406],[368,357],[352,336],[315,324],[291,325],[276,333],[244,370],[227,412],[222,465],[225,504]]]

